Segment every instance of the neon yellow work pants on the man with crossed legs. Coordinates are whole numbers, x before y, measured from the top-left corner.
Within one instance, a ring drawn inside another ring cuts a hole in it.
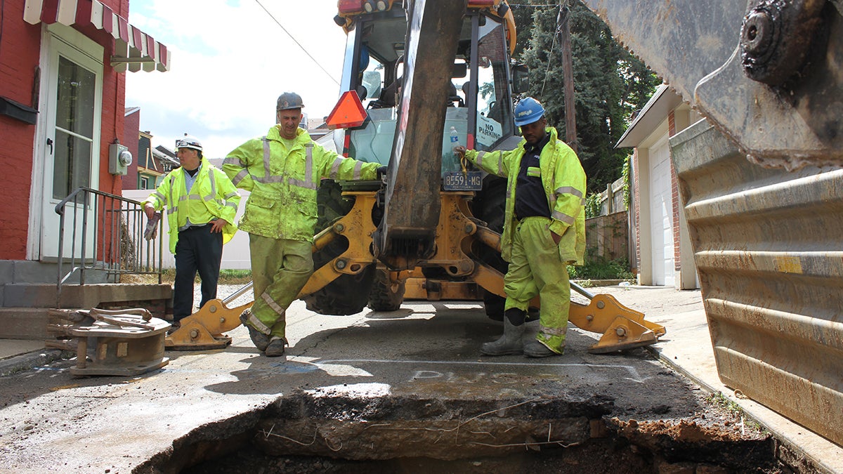
[[[252,316],[264,326],[255,324],[255,329],[286,337],[287,307],[295,301],[313,273],[311,245],[303,240],[249,234],[249,250],[255,292]]]

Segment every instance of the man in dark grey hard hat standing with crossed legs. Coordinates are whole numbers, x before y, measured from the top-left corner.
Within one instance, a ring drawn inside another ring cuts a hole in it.
[[[385,170],[315,143],[298,127],[303,106],[298,94],[281,94],[266,137],[243,143],[223,161],[234,186],[251,191],[239,228],[249,233],[255,304],[240,320],[267,357],[283,355],[287,307],[313,273],[320,180],[376,180]]]

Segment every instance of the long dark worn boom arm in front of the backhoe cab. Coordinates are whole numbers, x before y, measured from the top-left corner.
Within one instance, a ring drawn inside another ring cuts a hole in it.
[[[384,218],[374,236],[375,255],[394,270],[411,270],[435,250],[442,125],[467,3],[417,0],[409,10]]]

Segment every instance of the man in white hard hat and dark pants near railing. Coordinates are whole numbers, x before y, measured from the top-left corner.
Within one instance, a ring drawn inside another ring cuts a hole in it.
[[[169,250],[175,254],[173,326],[193,313],[193,280],[201,279],[201,302],[217,298],[223,244],[234,236],[234,218],[240,202],[237,188],[202,157],[202,144],[185,136],[175,143],[180,168],[170,171],[144,201],[143,212],[152,219],[167,208]]]

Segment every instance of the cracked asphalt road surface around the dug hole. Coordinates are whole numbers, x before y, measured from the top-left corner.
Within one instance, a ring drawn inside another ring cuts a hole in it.
[[[219,296],[236,288],[220,288]],[[701,307],[699,291],[657,289],[607,293],[656,322],[660,314]],[[260,356],[240,326],[229,333],[230,347],[167,352],[168,365],[140,376],[77,378],[68,371],[75,362],[63,361],[0,379],[0,471],[132,471],[185,439],[210,436],[208,427],[231,432],[254,423],[250,413],[292,394],[553,397],[574,414],[599,407],[599,416],[639,420],[708,409],[697,387],[646,350],[589,354],[598,335],[575,328],[561,357],[480,357],[481,343],[497,338],[501,326],[477,303],[411,302],[389,313],[325,316],[297,301],[287,320],[290,347],[282,358]],[[537,323],[529,325],[537,331]]]

